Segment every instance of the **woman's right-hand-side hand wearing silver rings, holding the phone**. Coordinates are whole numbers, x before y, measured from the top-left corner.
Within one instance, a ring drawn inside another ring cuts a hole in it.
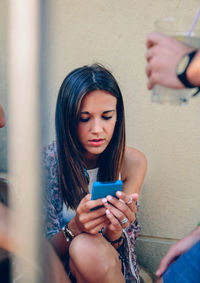
[[[106,216],[109,219],[105,234],[111,241],[119,238],[122,229],[128,227],[135,220],[137,211],[135,202],[138,199],[138,194],[127,195],[124,192],[118,191],[116,195],[119,199],[107,196],[107,202],[104,203]]]

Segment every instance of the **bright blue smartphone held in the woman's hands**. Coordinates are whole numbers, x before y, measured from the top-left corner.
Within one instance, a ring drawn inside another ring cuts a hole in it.
[[[94,182],[91,200],[105,198],[108,195],[116,197],[116,192],[121,191],[122,187],[123,182],[121,180],[115,182]]]

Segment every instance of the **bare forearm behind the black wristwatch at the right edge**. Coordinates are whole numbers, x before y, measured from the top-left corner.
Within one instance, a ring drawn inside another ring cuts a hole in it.
[[[200,50],[196,53],[186,72],[189,82],[195,86],[200,86]]]

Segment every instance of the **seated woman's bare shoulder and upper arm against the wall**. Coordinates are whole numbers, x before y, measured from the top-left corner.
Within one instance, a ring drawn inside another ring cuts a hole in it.
[[[123,191],[125,193],[140,193],[146,169],[147,159],[145,155],[135,148],[126,147],[121,171],[121,178],[124,183]]]

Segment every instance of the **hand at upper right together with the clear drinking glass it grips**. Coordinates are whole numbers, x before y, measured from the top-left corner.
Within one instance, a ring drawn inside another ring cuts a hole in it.
[[[189,66],[196,53],[185,56],[189,58],[189,61],[186,61],[188,59],[183,56],[200,48],[200,37],[196,35],[198,29],[196,33],[192,29],[190,32],[186,32],[190,26],[189,19],[181,21],[175,18],[164,18],[156,21],[155,24],[157,32],[150,33],[146,41],[147,88],[153,89],[153,102],[173,105],[185,104],[196,92],[196,85],[189,82],[187,84],[185,81],[182,83],[177,75],[180,66],[183,68],[183,63]],[[187,78],[185,77],[185,79]]]

